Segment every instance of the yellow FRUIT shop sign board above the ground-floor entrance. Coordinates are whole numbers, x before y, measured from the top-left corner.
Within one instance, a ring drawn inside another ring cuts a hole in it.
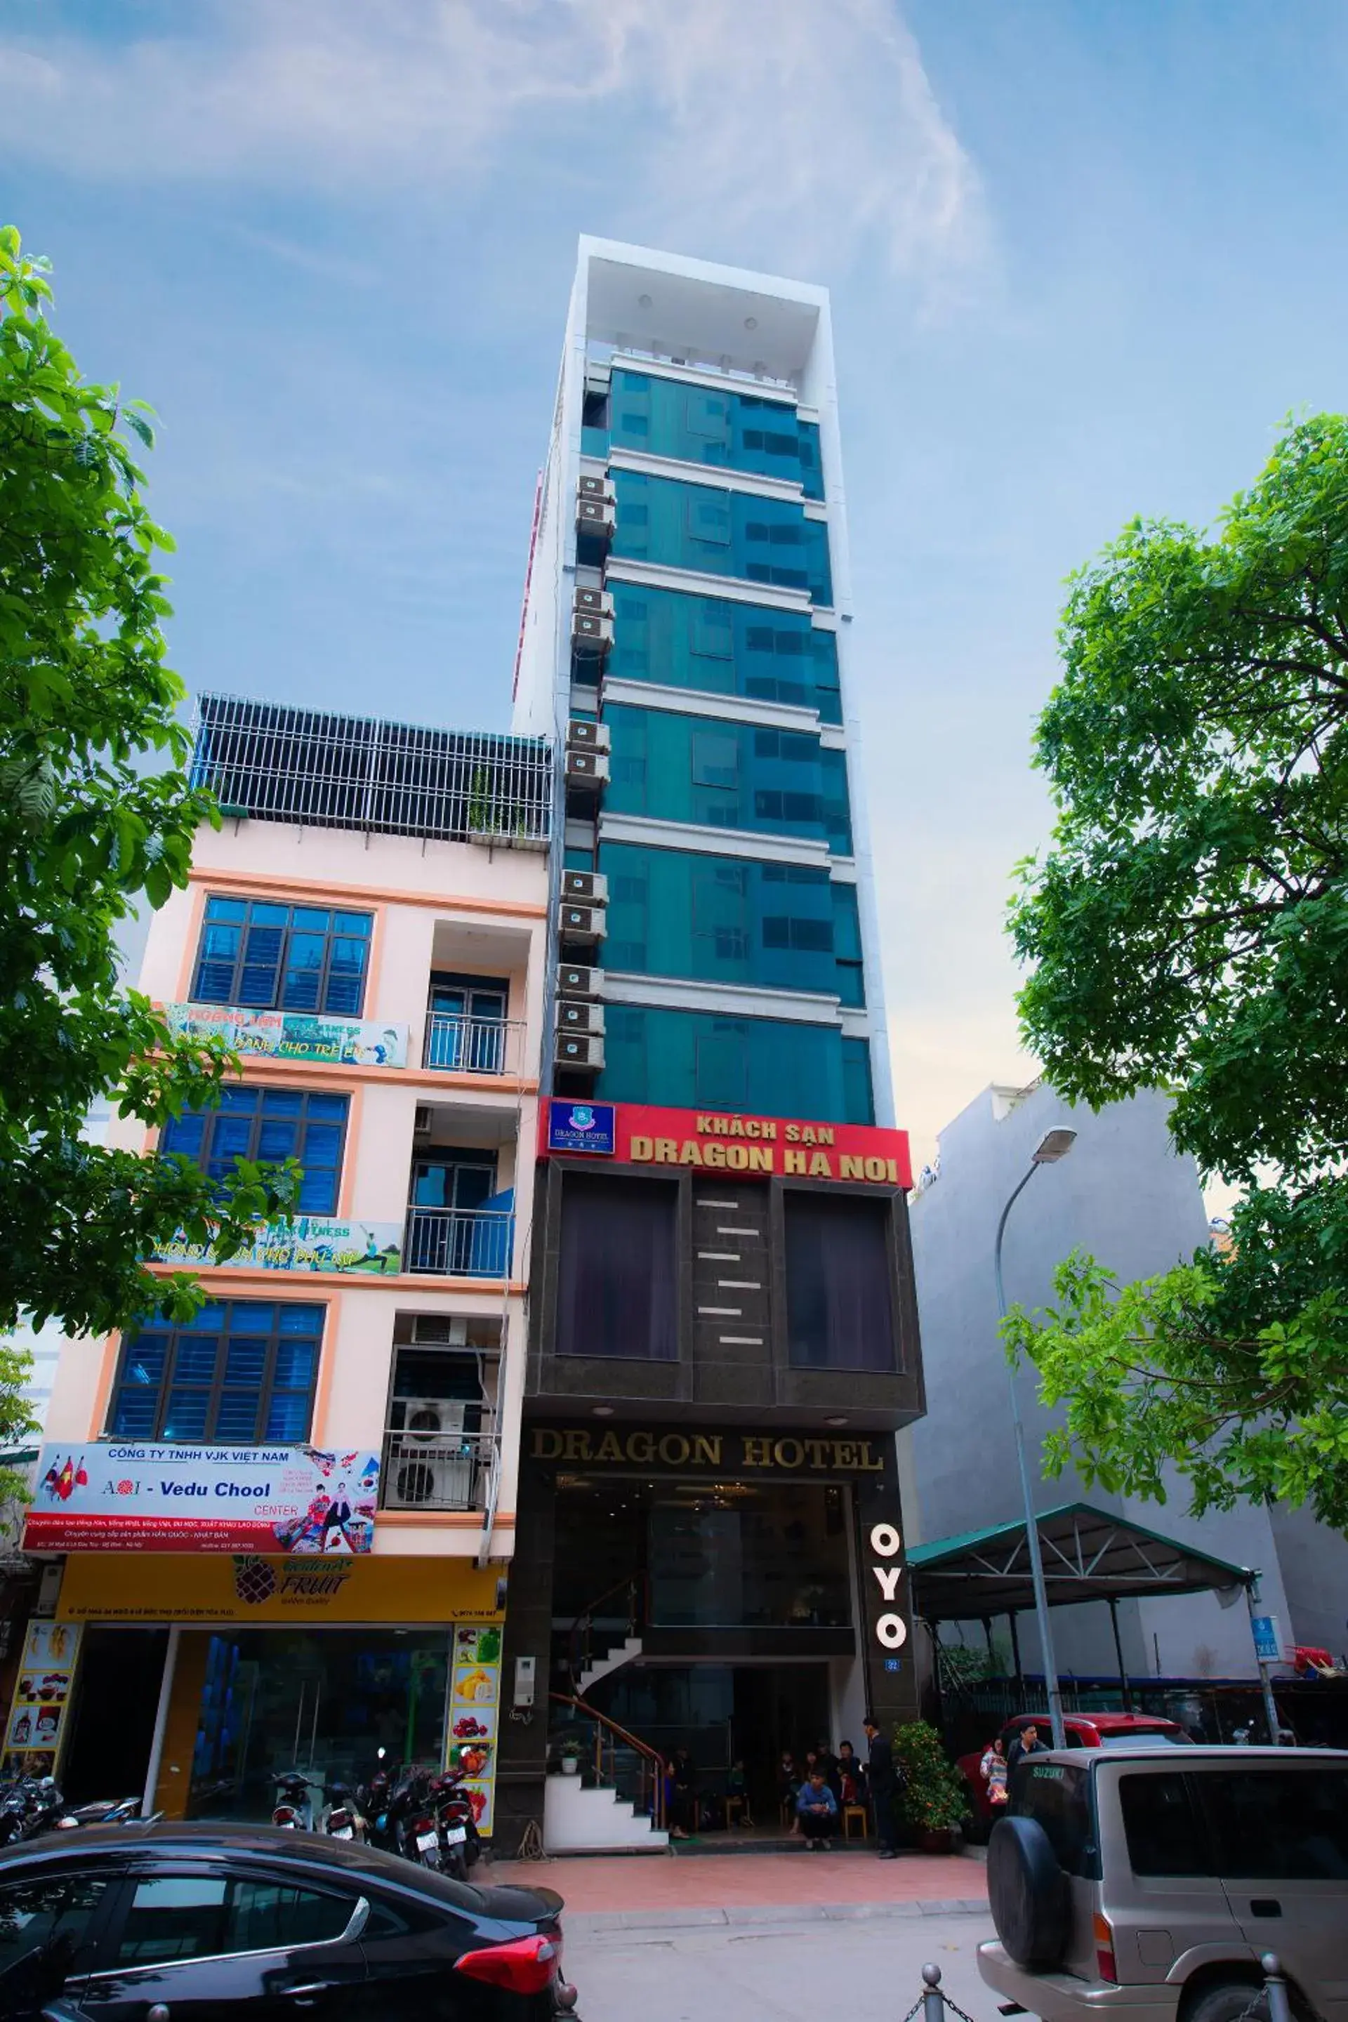
[[[352,1622],[441,1628],[455,1620],[501,1622],[503,1605],[501,1567],[479,1567],[473,1559],[412,1559],[384,1551],[358,1557],[216,1551],[192,1559],[168,1551],[107,1551],[67,1559],[57,1616],[61,1622],[180,1622],[184,1628],[230,1622],[311,1630]],[[487,1719],[481,1707],[477,1719]]]

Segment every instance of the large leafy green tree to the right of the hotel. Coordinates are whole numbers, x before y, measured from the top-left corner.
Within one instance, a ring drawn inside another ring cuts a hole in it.
[[[1245,1189],[1231,1244],[1120,1288],[1085,1256],[1015,1355],[1049,1466],[1348,1529],[1348,419],[1281,435],[1215,534],[1134,522],[1071,582],[1037,728],[1053,845],[1021,865],[1027,1045]]]

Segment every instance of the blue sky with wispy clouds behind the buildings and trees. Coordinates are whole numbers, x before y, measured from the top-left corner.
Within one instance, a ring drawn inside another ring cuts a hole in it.
[[[897,1120],[1025,1082],[1065,576],[1340,408],[1340,0],[0,0],[190,690],[505,728],[576,237],[833,291]]]

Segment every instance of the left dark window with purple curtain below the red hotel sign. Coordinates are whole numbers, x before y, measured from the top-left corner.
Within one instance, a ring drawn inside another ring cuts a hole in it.
[[[675,1361],[675,1187],[566,1175],[558,1355]]]

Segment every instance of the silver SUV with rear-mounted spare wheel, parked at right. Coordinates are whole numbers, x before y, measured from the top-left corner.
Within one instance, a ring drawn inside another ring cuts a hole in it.
[[[1348,2022],[1348,1753],[1029,1757],[992,1828],[988,1897],[978,1971],[1008,2014],[1265,2016],[1259,1955],[1275,1951],[1293,2012]]]

